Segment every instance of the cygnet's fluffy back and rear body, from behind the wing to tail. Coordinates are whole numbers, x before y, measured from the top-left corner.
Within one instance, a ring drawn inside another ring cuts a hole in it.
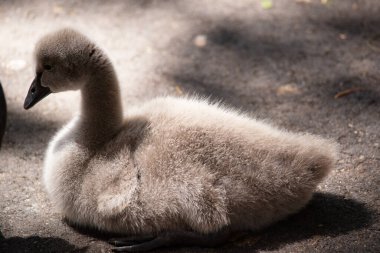
[[[258,229],[298,211],[335,162],[328,140],[205,101],[159,98],[129,117],[127,126],[133,119],[141,126],[134,146],[141,199],[160,214],[171,203],[172,215],[204,233]]]

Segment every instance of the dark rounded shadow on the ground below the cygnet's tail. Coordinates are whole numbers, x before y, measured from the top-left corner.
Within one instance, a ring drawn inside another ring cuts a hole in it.
[[[254,248],[275,250],[315,236],[335,237],[370,226],[373,216],[363,203],[317,193],[300,213],[259,233],[260,239]]]

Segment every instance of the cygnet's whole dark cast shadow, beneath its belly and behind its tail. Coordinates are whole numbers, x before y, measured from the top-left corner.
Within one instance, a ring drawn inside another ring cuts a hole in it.
[[[263,231],[250,233],[222,247],[223,252],[255,252],[277,250],[286,244],[310,238],[335,237],[372,224],[373,213],[363,203],[343,196],[317,193],[300,213]],[[68,223],[66,221],[66,223]],[[70,225],[70,224],[69,224]],[[73,227],[73,226],[72,226]],[[73,227],[77,232],[107,240],[117,237],[91,229]],[[120,235],[119,235],[120,236]],[[190,250],[190,251],[189,251]],[[216,249],[162,249],[159,252],[219,252]]]

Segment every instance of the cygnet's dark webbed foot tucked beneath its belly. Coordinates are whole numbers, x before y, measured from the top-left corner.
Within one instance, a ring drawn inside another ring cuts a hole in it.
[[[197,234],[194,232],[180,231],[167,232],[154,236],[114,238],[109,243],[116,246],[113,252],[143,252],[162,247],[197,246],[217,247],[228,242],[229,231],[220,231],[213,234]]]

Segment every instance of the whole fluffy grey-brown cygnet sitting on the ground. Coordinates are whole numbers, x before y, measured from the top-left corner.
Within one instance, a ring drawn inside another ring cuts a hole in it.
[[[47,192],[72,223],[145,238],[114,241],[120,251],[217,245],[268,226],[304,207],[334,165],[334,142],[206,100],[161,97],[123,117],[110,60],[74,30],[42,38],[35,57],[26,109],[82,94],[46,152]]]

